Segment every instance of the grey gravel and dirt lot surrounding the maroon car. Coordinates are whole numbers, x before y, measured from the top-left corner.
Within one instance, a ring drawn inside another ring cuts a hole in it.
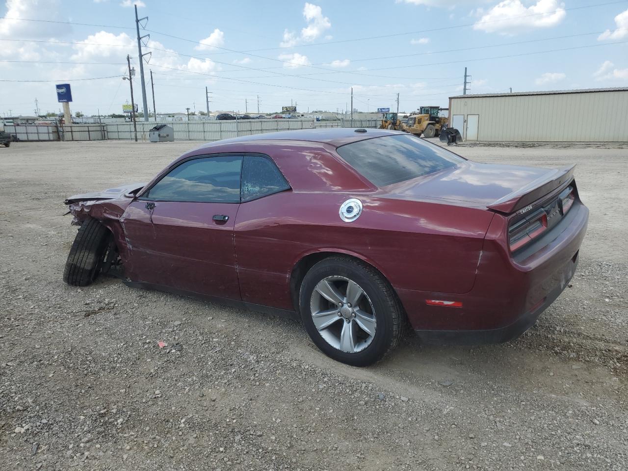
[[[0,148],[1,470],[628,469],[627,149],[459,147],[578,164],[591,216],[572,287],[516,342],[408,335],[357,369],[291,320],[63,284],[63,199],[148,180],[196,145]]]

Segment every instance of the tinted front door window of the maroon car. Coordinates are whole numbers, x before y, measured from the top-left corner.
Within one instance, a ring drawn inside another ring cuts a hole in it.
[[[142,197],[163,201],[238,203],[241,168],[242,156],[188,160],[161,178]]]

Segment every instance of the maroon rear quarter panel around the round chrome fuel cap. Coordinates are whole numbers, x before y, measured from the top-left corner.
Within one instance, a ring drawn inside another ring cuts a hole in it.
[[[362,215],[343,222],[340,205],[356,196]],[[235,226],[242,300],[293,308],[293,268],[308,254],[328,251],[372,264],[396,289],[465,293],[491,218],[473,208],[355,193],[283,192],[242,203]]]

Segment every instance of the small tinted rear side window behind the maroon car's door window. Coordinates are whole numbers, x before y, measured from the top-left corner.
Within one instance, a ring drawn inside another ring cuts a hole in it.
[[[290,185],[269,158],[246,156],[242,165],[242,201],[288,190]]]

